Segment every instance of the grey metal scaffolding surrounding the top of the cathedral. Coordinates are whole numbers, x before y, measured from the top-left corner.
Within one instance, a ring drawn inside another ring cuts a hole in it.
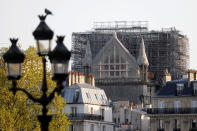
[[[118,39],[137,58],[141,36],[144,38],[148,56],[149,72],[161,80],[165,70],[172,74],[172,79],[180,79],[189,68],[188,38],[175,28],[163,28],[160,31],[148,31],[147,21],[95,22],[94,30],[72,34],[72,70],[82,71],[82,61],[87,41],[90,42],[92,57],[102,49],[117,32]],[[96,79],[96,78],[95,78]]]

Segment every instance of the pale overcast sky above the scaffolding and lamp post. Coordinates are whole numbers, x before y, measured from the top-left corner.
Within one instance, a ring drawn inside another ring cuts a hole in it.
[[[38,14],[48,8],[53,16],[47,24],[55,35],[91,30],[95,21],[149,21],[149,30],[176,27],[190,43],[190,67],[197,69],[197,0],[1,0],[0,47],[18,37],[26,49],[35,46],[32,31],[39,23]],[[55,42],[53,42],[55,45]]]

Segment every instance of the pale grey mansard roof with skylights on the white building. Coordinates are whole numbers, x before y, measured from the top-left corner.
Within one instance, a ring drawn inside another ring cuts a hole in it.
[[[109,105],[103,89],[90,84],[75,84],[65,88],[62,94],[67,104]]]

